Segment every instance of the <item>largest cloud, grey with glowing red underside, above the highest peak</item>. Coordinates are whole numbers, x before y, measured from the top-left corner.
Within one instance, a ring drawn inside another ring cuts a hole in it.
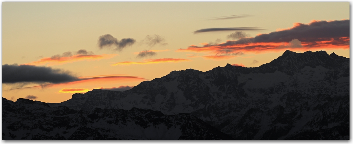
[[[239,38],[220,44],[201,43],[176,52],[216,54],[223,50],[243,53],[282,52],[283,50],[337,50],[349,49],[349,19],[340,21],[311,21],[294,23],[292,28],[281,29],[254,38]]]

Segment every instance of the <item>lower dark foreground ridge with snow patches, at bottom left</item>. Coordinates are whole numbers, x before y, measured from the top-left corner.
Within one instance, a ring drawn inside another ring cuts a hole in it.
[[[78,111],[2,98],[2,140],[232,140],[191,114],[132,108]]]

